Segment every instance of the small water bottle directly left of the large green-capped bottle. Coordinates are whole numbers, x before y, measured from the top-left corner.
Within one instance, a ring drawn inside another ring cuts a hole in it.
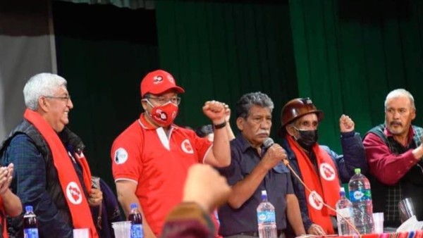
[[[338,220],[338,234],[348,235],[355,234],[355,230],[351,225],[354,225],[353,221],[353,203],[345,197],[345,189],[341,187],[339,192],[341,198],[336,203],[336,220]],[[341,216],[342,215],[342,216]],[[350,223],[350,224],[348,224]]]

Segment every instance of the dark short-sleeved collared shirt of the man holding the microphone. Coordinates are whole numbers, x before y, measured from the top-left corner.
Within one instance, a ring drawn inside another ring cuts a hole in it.
[[[232,186],[250,175],[264,154],[266,154],[264,146],[262,154],[259,155],[257,149],[253,148],[242,134],[238,134],[231,141],[231,165],[219,171]],[[262,202],[262,190],[266,190],[269,202],[275,207],[277,229],[286,228],[286,194],[293,194],[293,185],[288,168],[279,163],[269,170],[243,206],[234,209],[226,204],[219,208],[221,222],[219,234],[229,236],[240,232],[257,232],[257,206]]]

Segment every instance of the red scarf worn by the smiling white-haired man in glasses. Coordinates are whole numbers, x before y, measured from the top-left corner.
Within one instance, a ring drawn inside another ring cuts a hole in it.
[[[51,155],[53,156],[54,167],[56,167],[63,194],[65,195],[66,202],[68,203],[69,211],[71,211],[73,227],[75,229],[90,228],[90,237],[98,238],[99,236],[97,234],[97,230],[95,229],[94,222],[92,221],[92,215],[87,198],[82,191],[82,186],[76,171],[69,169],[73,168],[73,164],[65,146],[63,146],[63,143],[59,139],[59,136],[53,130],[51,125],[49,125],[49,123],[47,123],[47,121],[39,115],[39,113],[27,109],[23,114],[23,117],[34,125],[49,145]],[[82,173],[87,175],[84,176],[84,182],[87,185],[87,189],[91,189],[91,179],[88,177],[91,175],[90,168],[88,167],[85,158],[79,161],[82,165]]]

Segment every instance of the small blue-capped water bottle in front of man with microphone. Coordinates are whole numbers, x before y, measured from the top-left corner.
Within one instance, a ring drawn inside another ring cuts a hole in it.
[[[259,238],[276,238],[275,207],[267,201],[267,192],[262,190],[262,202],[257,207],[257,222],[259,225]]]

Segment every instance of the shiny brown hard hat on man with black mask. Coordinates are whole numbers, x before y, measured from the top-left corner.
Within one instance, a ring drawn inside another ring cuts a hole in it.
[[[288,101],[281,111],[281,128],[279,129],[278,134],[283,135],[285,133],[286,125],[292,123],[297,118],[310,113],[316,113],[319,122],[323,118],[323,112],[317,110],[312,99],[309,99],[308,97]]]

